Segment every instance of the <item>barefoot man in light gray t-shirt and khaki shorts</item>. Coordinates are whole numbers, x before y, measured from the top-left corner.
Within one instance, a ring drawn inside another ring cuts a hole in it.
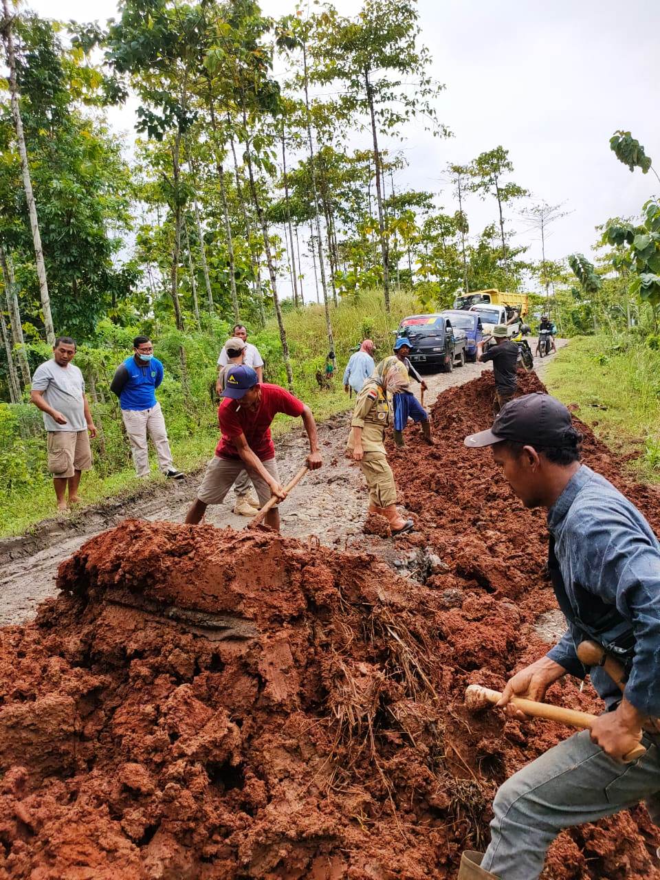
[[[34,370],[30,392],[48,431],[48,470],[53,474],[58,510],[67,510],[67,486],[69,503],[79,502],[80,474],[92,467],[89,438],[96,436],[83,374],[71,363],[75,356],[76,342],[58,336],[52,359]]]

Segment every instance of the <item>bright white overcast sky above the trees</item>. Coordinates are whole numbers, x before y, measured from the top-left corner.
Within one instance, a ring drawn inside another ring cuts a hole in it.
[[[28,5],[63,20],[116,13],[112,0]],[[335,0],[335,6],[355,14],[358,3]],[[295,0],[261,0],[261,7],[282,15]],[[432,76],[446,85],[437,116],[454,136],[441,140],[422,123],[411,124],[403,143],[391,144],[408,161],[395,179],[398,189],[437,192],[448,162],[463,164],[502,144],[515,166],[512,180],[532,192],[532,201],[566,202],[571,212],[551,228],[548,259],[589,253],[596,225],[638,214],[649,194],[658,193],[652,173],[628,172],[608,143],[617,128],[630,130],[660,169],[657,0],[419,0],[419,11]],[[131,129],[132,110],[115,112],[112,121]],[[368,133],[355,145],[368,148]],[[448,189],[436,203],[455,209]],[[494,203],[473,196],[466,208],[472,232],[496,219]],[[532,233],[517,242],[539,257]]]

